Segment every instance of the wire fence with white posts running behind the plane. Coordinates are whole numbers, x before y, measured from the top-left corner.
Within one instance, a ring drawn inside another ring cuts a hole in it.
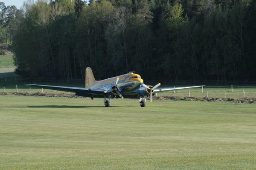
[[[70,85],[73,86],[73,85]],[[83,85],[81,85],[83,86]],[[80,86],[80,87],[81,87]],[[44,88],[25,86],[23,83],[0,85],[0,92],[28,92],[28,93],[70,93]],[[70,93],[73,94],[73,93]],[[203,86],[195,89],[180,89],[155,93],[157,96],[196,97],[196,98],[256,98],[256,86]]]

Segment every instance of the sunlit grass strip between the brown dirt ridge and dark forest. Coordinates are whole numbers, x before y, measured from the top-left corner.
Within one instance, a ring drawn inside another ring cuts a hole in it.
[[[14,78],[13,78],[14,79]],[[0,84],[0,92],[3,92],[3,86],[7,92],[16,92],[16,84],[18,85],[18,92],[29,92],[29,87],[25,86],[25,83],[2,83]],[[35,83],[35,84],[44,84],[44,83]],[[61,85],[61,86],[77,86],[84,87],[84,84],[48,84],[48,85]],[[170,85],[172,86],[172,85]],[[161,87],[161,86],[160,86]],[[166,86],[163,86],[166,87]],[[209,98],[244,98],[244,92],[248,98],[256,98],[256,86],[233,86],[233,92],[231,92],[231,86],[226,87],[204,87],[204,92],[202,93],[202,88],[197,89],[183,89],[170,92],[158,92],[157,96],[179,96],[179,97],[189,97],[189,91],[191,97],[206,97],[208,91]],[[32,87],[31,92],[42,92],[42,89]],[[55,90],[44,89],[44,92],[55,92]],[[57,91],[58,93],[68,93]]]

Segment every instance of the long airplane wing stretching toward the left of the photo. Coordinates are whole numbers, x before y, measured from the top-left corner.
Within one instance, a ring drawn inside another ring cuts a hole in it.
[[[41,84],[25,84],[25,85],[31,86],[31,87],[60,90],[65,92],[76,92],[76,93],[82,93],[82,94],[104,95],[106,93],[104,89],[90,89],[90,88],[83,88],[83,87],[68,87],[68,86],[48,86],[48,85],[41,85]]]

